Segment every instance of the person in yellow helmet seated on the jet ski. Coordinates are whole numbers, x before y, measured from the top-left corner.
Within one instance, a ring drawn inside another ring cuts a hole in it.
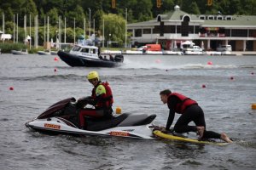
[[[90,71],[87,75],[88,81],[94,86],[90,97],[79,99],[79,123],[80,127],[86,129],[84,116],[98,119],[112,117],[113,94],[108,82],[101,82],[96,71]],[[93,105],[95,108],[84,108],[84,105]]]

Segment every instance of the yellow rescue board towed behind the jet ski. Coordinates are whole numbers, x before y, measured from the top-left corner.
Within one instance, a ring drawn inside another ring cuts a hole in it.
[[[186,138],[186,137],[175,136],[175,135],[170,134],[170,133],[162,133],[160,130],[154,130],[153,133],[156,137],[159,137],[160,139],[178,140],[178,141],[195,143],[195,144],[217,144],[217,145],[229,144],[229,143],[226,143],[226,142],[189,139],[189,138]]]

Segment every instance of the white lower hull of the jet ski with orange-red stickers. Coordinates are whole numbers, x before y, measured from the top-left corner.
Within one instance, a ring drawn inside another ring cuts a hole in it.
[[[31,122],[26,122],[26,127],[40,132],[49,134],[68,134],[74,136],[119,136],[133,139],[154,139],[150,125],[127,126],[127,127],[112,127],[101,131],[89,131],[79,129],[73,123],[65,122],[61,117],[52,117],[50,119],[35,119]]]

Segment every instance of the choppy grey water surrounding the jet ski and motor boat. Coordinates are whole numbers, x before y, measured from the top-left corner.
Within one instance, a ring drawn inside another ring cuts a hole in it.
[[[256,168],[256,56],[126,55],[119,68],[72,68],[55,57],[0,55],[1,169]],[[154,124],[164,126],[168,110],[159,93],[170,88],[196,99],[207,129],[228,133],[236,143],[75,138],[26,129],[26,122],[56,101],[90,95],[85,75],[92,70],[110,82],[114,108],[157,114]]]

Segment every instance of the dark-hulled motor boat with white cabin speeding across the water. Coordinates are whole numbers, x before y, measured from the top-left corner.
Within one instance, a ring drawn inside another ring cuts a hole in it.
[[[59,51],[57,53],[61,60],[70,66],[86,66],[86,67],[117,67],[123,64],[124,56],[116,54],[114,57],[109,54],[100,56],[99,49],[96,46],[87,44],[76,44],[69,52]]]

